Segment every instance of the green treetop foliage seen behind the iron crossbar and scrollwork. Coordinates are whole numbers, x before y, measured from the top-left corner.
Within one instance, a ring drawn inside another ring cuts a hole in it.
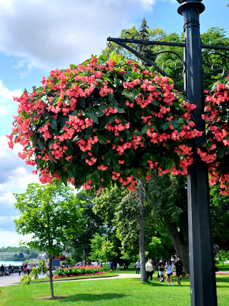
[[[184,42],[184,34],[181,35],[177,33],[166,33],[162,29],[154,28],[154,29],[147,29],[147,31],[150,33],[150,40],[154,41],[166,41],[166,42]],[[129,32],[129,37],[133,37],[137,34],[138,30],[133,27],[131,29],[123,29],[120,34],[120,38],[125,38],[125,33]],[[226,31],[224,29],[221,29],[219,27],[212,27],[207,32],[201,34],[201,40],[202,44],[210,44],[210,45],[222,45],[222,46],[228,46],[229,45],[229,38],[225,37]],[[141,39],[140,34],[138,34],[138,37],[136,39]],[[137,50],[136,44],[127,43],[128,46],[132,47],[134,50]],[[117,54],[123,54],[128,56],[129,58],[136,59],[135,55],[131,54],[130,51],[124,49],[123,47],[112,43],[112,46],[110,48],[112,51],[115,51]],[[221,77],[221,67],[219,63],[222,63],[222,57],[220,55],[213,54],[211,49],[203,49],[203,59],[204,59],[204,71],[206,75],[204,75],[204,88],[208,88],[211,83],[213,83],[213,79],[217,79]],[[108,47],[106,47],[104,50],[102,50],[102,54],[106,55],[108,52]],[[162,52],[161,54],[157,54],[159,52]],[[182,60],[178,58],[174,53],[177,53],[181,59],[183,59],[183,48],[182,47],[176,47],[176,46],[151,46],[150,52],[148,55],[149,59],[159,67],[164,68],[164,71],[173,78],[173,76],[180,75],[178,79],[176,79],[176,82],[183,87],[184,81],[183,81],[183,64]],[[224,54],[228,56],[227,50],[216,50],[216,53]],[[215,72],[212,71],[211,66],[214,64]],[[224,59],[224,66],[229,67],[229,60]],[[218,69],[218,73],[216,73],[216,70]],[[212,78],[212,81],[209,80],[208,77]]]

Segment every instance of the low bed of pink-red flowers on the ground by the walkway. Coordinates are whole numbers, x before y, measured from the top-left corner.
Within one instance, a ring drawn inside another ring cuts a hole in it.
[[[66,267],[60,268],[56,271],[56,274],[53,275],[53,278],[61,278],[61,277],[74,277],[74,276],[84,276],[84,275],[99,275],[104,274],[103,268],[101,266],[74,266],[74,267]]]

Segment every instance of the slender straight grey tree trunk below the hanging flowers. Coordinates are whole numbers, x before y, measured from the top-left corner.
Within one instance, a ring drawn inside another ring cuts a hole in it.
[[[144,198],[143,180],[139,181],[139,255],[141,267],[141,283],[147,282],[146,257],[145,257],[145,231],[144,231]]]

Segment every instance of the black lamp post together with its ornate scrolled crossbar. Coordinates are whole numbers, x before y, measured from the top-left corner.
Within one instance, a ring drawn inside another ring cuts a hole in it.
[[[164,41],[150,41],[150,34],[146,29],[139,31],[134,37],[127,38],[130,35],[126,33],[126,38],[111,38],[108,37],[108,46],[110,42],[115,42],[118,45],[129,50],[132,54],[145,61],[148,65],[154,66],[158,73],[163,76],[169,76],[163,68],[158,67],[151,61],[147,55],[151,45],[155,46],[176,46],[183,47],[184,59],[182,59],[184,75],[184,88],[177,83],[177,89],[189,99],[190,103],[196,105],[193,111],[194,122],[199,131],[205,132],[205,123],[202,119],[204,113],[204,98],[203,98],[203,61],[208,61],[211,55],[222,57],[224,64],[216,62],[211,66],[212,73],[219,74],[217,66],[222,69],[222,74],[217,79],[220,80],[229,74],[229,55],[221,53],[210,53],[205,58],[202,58],[202,49],[224,50],[229,52],[228,46],[205,45],[201,43],[199,31],[199,15],[204,12],[205,6],[202,0],[177,0],[181,5],[178,8],[178,13],[184,17],[184,43],[173,43]],[[141,40],[134,39],[141,34]],[[131,48],[126,43],[135,43],[138,45],[138,50]],[[141,48],[139,48],[141,46]],[[141,50],[141,52],[139,52]],[[158,52],[150,54],[150,56],[159,55],[161,53],[174,53],[171,51]],[[110,51],[108,53],[111,53]],[[181,59],[181,57],[174,53]],[[173,58],[169,58],[176,62]],[[208,61],[209,63],[209,61]],[[207,75],[205,74],[207,77]],[[172,77],[173,78],[173,77]],[[213,238],[210,210],[210,195],[208,182],[208,167],[197,154],[199,143],[205,140],[205,133],[202,137],[198,137],[191,141],[193,151],[193,164],[188,169],[188,227],[189,227],[189,262],[190,262],[190,293],[191,306],[217,306],[216,293],[216,278],[215,264],[213,254]]]

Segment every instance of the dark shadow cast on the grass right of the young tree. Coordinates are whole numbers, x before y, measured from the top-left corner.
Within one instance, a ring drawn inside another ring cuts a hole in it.
[[[79,293],[71,295],[66,299],[59,300],[62,303],[74,302],[74,301],[99,301],[99,300],[112,300],[125,297],[125,294],[121,293],[103,293],[103,294],[93,294],[93,293]]]

